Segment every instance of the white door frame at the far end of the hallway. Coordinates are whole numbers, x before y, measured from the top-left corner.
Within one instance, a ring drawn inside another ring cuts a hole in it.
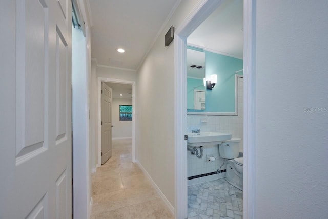
[[[132,162],[135,163],[135,81],[127,81],[122,79],[97,77],[97,167],[101,166],[101,82],[112,82],[119,84],[132,85]]]

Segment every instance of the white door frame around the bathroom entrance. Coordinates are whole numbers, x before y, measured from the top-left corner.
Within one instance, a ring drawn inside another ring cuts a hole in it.
[[[188,216],[187,183],[187,37],[222,3],[202,0],[174,34],[175,63],[175,218]],[[243,218],[254,218],[255,197],[255,8],[244,0]]]

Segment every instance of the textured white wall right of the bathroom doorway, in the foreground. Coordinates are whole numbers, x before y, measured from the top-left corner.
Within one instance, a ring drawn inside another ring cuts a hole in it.
[[[327,11],[256,1],[256,218],[328,215]]]

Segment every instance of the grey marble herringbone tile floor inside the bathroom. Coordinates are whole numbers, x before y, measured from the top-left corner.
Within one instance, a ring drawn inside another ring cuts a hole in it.
[[[242,191],[220,180],[188,186],[188,219],[242,218]]]

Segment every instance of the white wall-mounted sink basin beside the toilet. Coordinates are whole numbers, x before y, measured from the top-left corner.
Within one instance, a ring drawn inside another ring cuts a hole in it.
[[[188,133],[187,144],[193,147],[206,146],[206,145],[218,145],[224,140],[231,139],[232,134],[222,132],[200,132],[200,133]]]

